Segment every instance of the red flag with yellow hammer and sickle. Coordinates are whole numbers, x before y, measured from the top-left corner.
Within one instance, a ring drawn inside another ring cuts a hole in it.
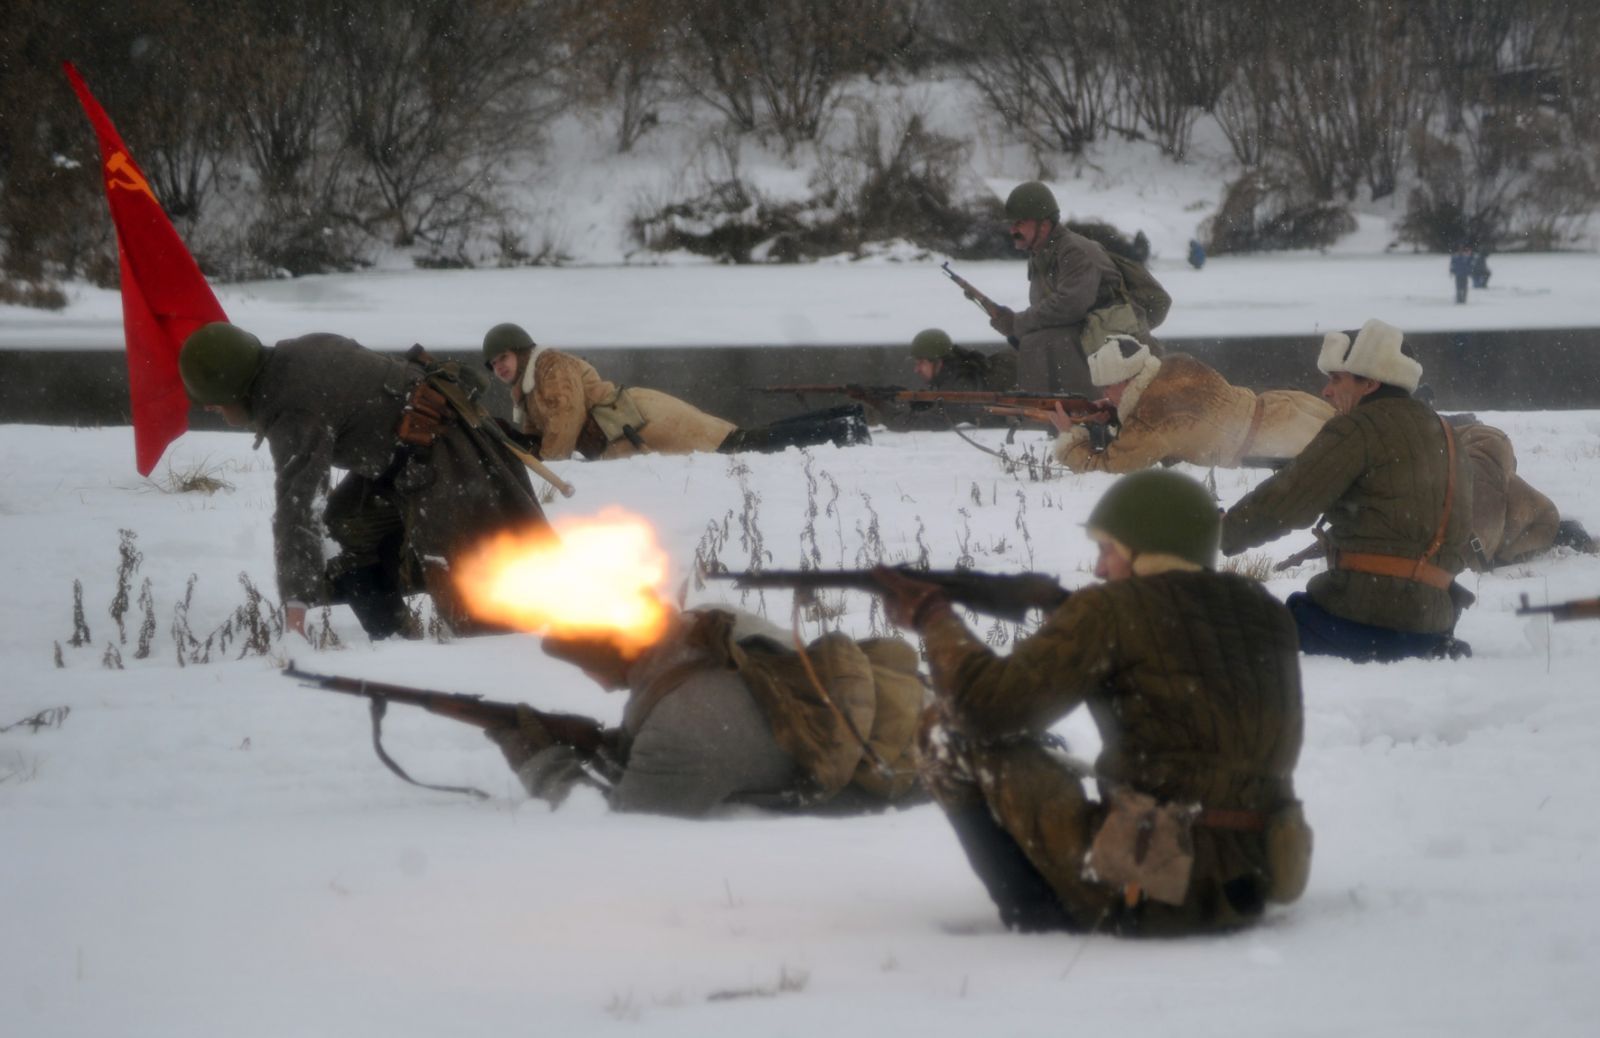
[[[189,395],[178,376],[178,350],[195,328],[226,321],[194,256],[128,155],[106,109],[83,77],[62,62],[101,144],[106,202],[117,226],[122,267],[122,328],[128,339],[128,397],[139,475],[150,475],[166,445],[189,429]]]

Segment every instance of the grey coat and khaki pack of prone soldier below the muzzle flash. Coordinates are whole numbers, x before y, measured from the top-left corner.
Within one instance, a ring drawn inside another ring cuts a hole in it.
[[[789,648],[787,632],[726,609],[678,614],[627,672],[622,728],[613,733],[622,768],[610,776],[611,806],[694,817],[723,803],[875,809],[914,795],[926,694],[917,651],[898,638],[858,643],[834,633],[813,641],[806,656],[827,699]],[[867,758],[842,713],[888,774]],[[504,736],[491,739],[531,795],[565,795],[539,776],[574,774],[570,747],[517,758]]]

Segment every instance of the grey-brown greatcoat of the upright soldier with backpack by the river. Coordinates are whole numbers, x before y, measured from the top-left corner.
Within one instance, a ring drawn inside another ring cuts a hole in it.
[[[1122,273],[1106,250],[1056,224],[1027,258],[1027,309],[1016,313],[1018,384],[1029,392],[1093,395],[1083,329],[1090,312],[1120,299]],[[1133,328],[1102,328],[1147,339],[1142,320]],[[1098,341],[1096,341],[1098,349]]]

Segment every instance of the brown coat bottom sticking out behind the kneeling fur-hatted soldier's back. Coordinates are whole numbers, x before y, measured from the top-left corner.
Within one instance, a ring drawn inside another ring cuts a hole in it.
[[[1482,545],[1469,557],[1474,569],[1506,566],[1555,544],[1562,513],[1555,502],[1517,475],[1517,453],[1510,438],[1472,422],[1456,427],[1462,449],[1472,459],[1472,534]]]

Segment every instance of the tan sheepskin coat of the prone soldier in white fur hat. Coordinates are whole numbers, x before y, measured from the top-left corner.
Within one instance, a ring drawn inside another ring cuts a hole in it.
[[[1258,414],[1259,408],[1259,414]],[[1246,457],[1294,457],[1333,405],[1293,389],[1253,393],[1186,353],[1150,357],[1117,406],[1122,430],[1104,451],[1082,425],[1056,440],[1074,472],[1133,472],[1166,462],[1237,469]]]

